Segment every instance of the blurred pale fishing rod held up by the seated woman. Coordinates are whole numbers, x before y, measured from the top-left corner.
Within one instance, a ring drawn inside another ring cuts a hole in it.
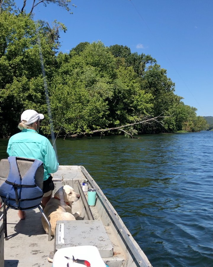
[[[49,101],[49,92],[48,92],[46,74],[45,74],[45,69],[44,69],[43,55],[41,51],[41,40],[39,37],[38,30],[37,30],[37,42],[38,42],[39,57],[40,57],[40,62],[41,62],[41,72],[43,76],[43,85],[44,85],[44,91],[45,91],[45,97],[46,97],[47,111],[48,111],[48,116],[49,116],[51,139],[52,139],[52,144],[53,144],[52,146],[56,152],[56,157],[57,157],[57,148],[55,144],[55,140],[57,137],[55,138],[55,134],[54,134],[54,127],[53,127],[53,122],[52,122],[52,115],[51,115],[51,108],[50,108],[50,101]]]

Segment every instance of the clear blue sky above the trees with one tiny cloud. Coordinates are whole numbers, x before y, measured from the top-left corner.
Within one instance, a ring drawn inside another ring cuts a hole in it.
[[[21,7],[22,1],[16,1]],[[27,10],[32,1],[27,0]],[[73,14],[49,4],[34,9],[34,19],[58,20],[64,53],[80,42],[127,45],[167,69],[175,93],[197,115],[213,116],[213,0],[73,0]]]

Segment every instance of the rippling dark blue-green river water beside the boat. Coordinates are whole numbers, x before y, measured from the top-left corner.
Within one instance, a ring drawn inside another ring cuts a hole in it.
[[[8,140],[0,139],[0,158]],[[83,165],[154,267],[213,266],[213,132],[57,139]]]

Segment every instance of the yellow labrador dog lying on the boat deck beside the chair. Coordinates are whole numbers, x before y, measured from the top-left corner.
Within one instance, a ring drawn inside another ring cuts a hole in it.
[[[75,220],[80,215],[80,212],[75,212],[72,215],[72,203],[79,198],[80,195],[75,193],[71,186],[64,185],[47,202],[43,211],[51,224],[51,236],[55,235],[55,227],[58,220]],[[48,225],[43,217],[41,221],[44,231],[48,234]]]

